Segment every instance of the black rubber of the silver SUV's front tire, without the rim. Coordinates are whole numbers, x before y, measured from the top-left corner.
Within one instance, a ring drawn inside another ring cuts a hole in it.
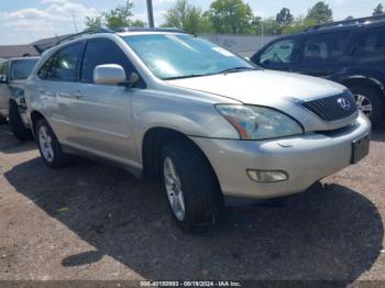
[[[164,163],[169,157],[180,179],[185,218],[177,219],[168,200]],[[221,192],[215,173],[205,155],[188,141],[179,140],[163,146],[161,179],[172,215],[178,226],[188,232],[201,231],[216,223],[221,208]]]

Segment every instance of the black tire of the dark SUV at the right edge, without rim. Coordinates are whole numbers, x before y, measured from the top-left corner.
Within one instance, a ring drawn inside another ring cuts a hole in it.
[[[350,90],[356,97],[362,95],[372,103],[372,114],[370,120],[374,130],[385,126],[385,97],[375,88],[367,85],[353,84],[349,86]]]

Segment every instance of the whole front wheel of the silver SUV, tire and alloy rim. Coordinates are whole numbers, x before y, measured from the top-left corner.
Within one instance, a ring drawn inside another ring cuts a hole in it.
[[[221,193],[205,155],[193,143],[175,141],[164,145],[161,176],[169,210],[185,231],[216,223]]]

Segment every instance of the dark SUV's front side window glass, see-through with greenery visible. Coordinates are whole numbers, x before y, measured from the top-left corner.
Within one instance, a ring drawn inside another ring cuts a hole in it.
[[[290,63],[294,52],[294,40],[283,40],[272,44],[260,57],[262,67],[278,67]]]

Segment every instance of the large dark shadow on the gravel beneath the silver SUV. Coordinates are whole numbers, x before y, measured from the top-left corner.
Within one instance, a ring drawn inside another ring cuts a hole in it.
[[[80,160],[50,170],[33,159],[6,177],[96,247],[68,255],[65,267],[109,255],[151,279],[352,281],[382,250],[376,207],[339,185],[316,185],[280,204],[228,209],[216,228],[187,235],[170,221],[156,185],[120,169]]]

